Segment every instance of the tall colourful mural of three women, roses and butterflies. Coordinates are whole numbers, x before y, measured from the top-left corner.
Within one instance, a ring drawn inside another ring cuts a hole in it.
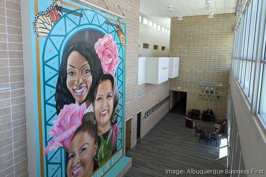
[[[32,0],[37,175],[98,177],[124,154],[127,23]]]

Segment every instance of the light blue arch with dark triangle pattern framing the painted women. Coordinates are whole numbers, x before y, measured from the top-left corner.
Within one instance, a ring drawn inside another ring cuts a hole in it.
[[[105,18],[101,13],[92,9],[76,9],[74,11],[84,14],[84,17],[75,17],[71,14],[64,14],[53,26],[49,35],[47,36],[41,55],[41,72],[42,72],[42,110],[43,110],[43,132],[44,132],[44,146],[47,145],[51,138],[48,136],[48,132],[51,128],[51,122],[57,117],[55,116],[55,80],[58,77],[58,71],[61,64],[61,56],[66,48],[66,44],[71,37],[84,30],[96,30],[102,34],[113,35],[114,40],[117,43],[119,53],[119,65],[115,73],[117,78],[117,84],[119,88],[120,99],[124,100],[123,88],[124,84],[124,62],[125,62],[125,46],[121,45],[121,41],[116,34],[116,28],[112,25],[107,25],[104,21],[109,20]],[[98,21],[97,21],[98,20]],[[122,54],[122,55],[120,55]],[[117,123],[120,128],[120,136],[117,142],[117,149],[120,149],[123,145],[123,110],[124,105],[119,104],[120,111],[117,119]],[[43,147],[44,148],[44,147]],[[53,157],[53,158],[51,158]],[[66,176],[66,153],[65,150],[60,148],[55,152],[48,152],[44,158],[45,176]],[[106,171],[107,169],[104,169]]]

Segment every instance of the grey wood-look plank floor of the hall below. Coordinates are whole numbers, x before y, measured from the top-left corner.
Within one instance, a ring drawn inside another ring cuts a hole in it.
[[[201,126],[211,127],[215,122],[197,120]],[[225,130],[226,132],[227,130]],[[184,115],[167,113],[162,120],[126,156],[132,157],[132,168],[126,177],[229,177],[227,169],[227,134],[222,135],[222,144],[194,137],[195,129],[185,126]],[[215,170],[212,174],[206,171]],[[190,172],[195,174],[189,174]],[[203,173],[200,175],[199,173]]]

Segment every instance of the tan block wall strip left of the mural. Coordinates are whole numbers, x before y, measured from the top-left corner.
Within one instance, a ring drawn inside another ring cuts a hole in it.
[[[0,174],[28,176],[20,0],[0,0]]]

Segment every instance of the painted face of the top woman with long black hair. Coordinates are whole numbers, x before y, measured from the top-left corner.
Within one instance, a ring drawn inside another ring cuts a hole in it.
[[[67,89],[76,100],[76,104],[81,105],[91,90],[93,78],[90,65],[79,52],[73,51],[67,58],[66,72]]]

